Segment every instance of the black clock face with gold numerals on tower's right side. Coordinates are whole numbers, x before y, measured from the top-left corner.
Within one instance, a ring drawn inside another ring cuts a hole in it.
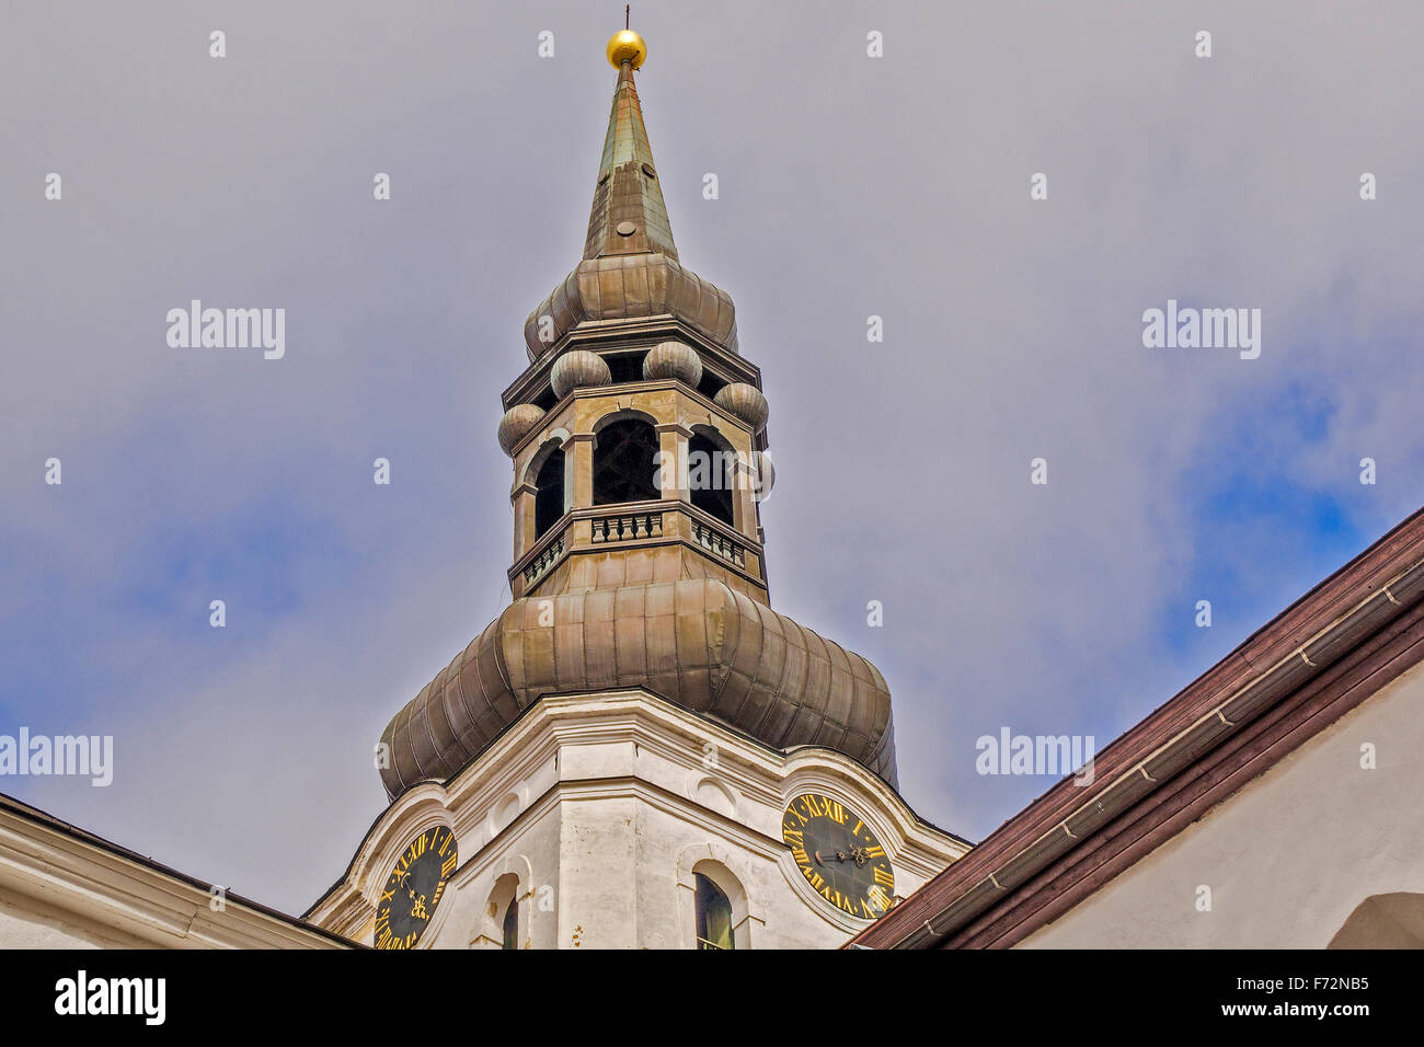
[[[863,920],[890,909],[890,856],[850,808],[819,792],[803,792],[782,815],[782,839],[812,890],[829,905]]]

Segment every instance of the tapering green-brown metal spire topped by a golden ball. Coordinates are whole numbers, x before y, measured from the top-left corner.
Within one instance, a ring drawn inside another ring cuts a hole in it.
[[[678,258],[632,80],[645,54],[646,47],[637,33],[625,30],[608,41],[608,60],[618,67],[618,85],[608,114],[594,208],[588,215],[585,259],[646,252]]]

